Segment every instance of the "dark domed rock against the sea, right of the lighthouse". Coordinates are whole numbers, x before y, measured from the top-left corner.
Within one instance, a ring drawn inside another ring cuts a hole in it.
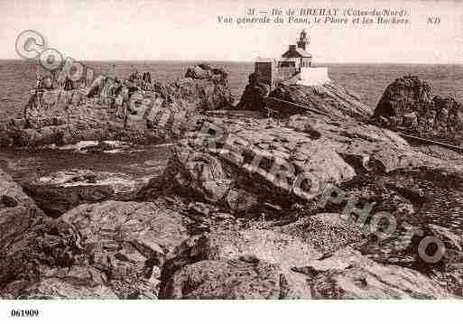
[[[384,91],[375,108],[379,124],[399,128],[444,143],[463,143],[463,105],[454,98],[434,96],[421,79],[396,79]]]

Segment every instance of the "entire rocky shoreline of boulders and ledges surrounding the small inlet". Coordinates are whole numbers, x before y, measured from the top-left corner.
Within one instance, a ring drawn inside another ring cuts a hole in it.
[[[403,243],[403,224],[439,202],[428,187],[462,191],[458,153],[449,159],[445,149],[410,145],[371,123],[374,110],[335,84],[282,85],[274,97],[323,115],[268,118],[230,109],[225,71],[191,67],[184,79],[138,92],[142,106],[148,98],[184,113],[172,132],[175,118],[163,127],[149,114],[127,122],[101,95],[108,83],[51,90],[47,105],[0,125],[0,144],[173,138],[170,160],[122,199],[97,185],[95,174],[76,180],[96,184],[84,192],[59,183],[21,188],[0,171],[2,298],[462,296],[461,234],[430,224]],[[56,206],[56,196],[66,203]],[[384,213],[398,224],[389,236],[376,218]],[[439,237],[445,250],[432,263],[420,257],[427,236]]]

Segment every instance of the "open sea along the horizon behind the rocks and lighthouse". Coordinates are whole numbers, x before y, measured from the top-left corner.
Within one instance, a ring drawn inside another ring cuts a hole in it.
[[[96,75],[110,74],[120,79],[138,69],[149,71],[152,79],[170,82],[184,76],[186,69],[199,61],[83,61]],[[229,73],[229,85],[239,99],[254,69],[253,62],[208,61]],[[412,74],[426,80],[436,95],[463,101],[463,65],[426,64],[318,64],[329,68],[330,79],[357,92],[367,106],[375,107],[384,89],[394,79]],[[315,64],[317,66],[317,64]],[[42,69],[34,61],[0,60],[0,118],[22,111]]]

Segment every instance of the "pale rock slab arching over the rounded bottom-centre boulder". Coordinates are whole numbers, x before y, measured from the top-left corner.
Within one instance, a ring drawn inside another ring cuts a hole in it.
[[[226,271],[229,269],[229,265],[219,263],[219,261],[227,260],[227,262],[235,263],[239,259],[251,264],[259,264],[260,262],[276,264],[277,267],[273,268],[273,271],[281,273],[282,278],[287,282],[288,292],[285,297],[310,298],[310,292],[304,289],[303,276],[300,273],[292,272],[291,268],[308,264],[319,256],[320,254],[315,248],[303,243],[298,238],[272,230],[227,230],[194,236],[179,245],[171,255],[168,255],[166,264],[162,269],[161,295],[162,298],[177,296],[179,277],[181,278],[180,282],[183,282],[184,279],[182,278],[193,275],[187,275],[185,272],[195,273],[196,264],[200,261],[216,261],[217,263],[204,264]],[[192,267],[188,267],[189,264],[193,264]],[[245,268],[247,267],[248,265],[245,265]],[[203,281],[211,280],[207,273],[203,273],[203,275],[207,276],[203,278]],[[230,275],[235,276],[236,274],[232,272]],[[250,278],[244,279],[245,282],[248,280]],[[208,282],[208,284],[212,283]]]

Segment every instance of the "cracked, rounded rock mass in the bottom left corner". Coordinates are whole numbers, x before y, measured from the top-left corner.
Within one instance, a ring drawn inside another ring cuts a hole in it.
[[[181,216],[156,203],[84,204],[9,228],[18,233],[2,245],[4,298],[153,299],[165,255],[188,237]]]

